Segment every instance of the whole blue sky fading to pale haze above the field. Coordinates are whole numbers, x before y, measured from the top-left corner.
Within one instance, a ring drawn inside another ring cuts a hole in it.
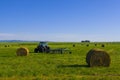
[[[0,0],[0,40],[120,41],[120,0]]]

